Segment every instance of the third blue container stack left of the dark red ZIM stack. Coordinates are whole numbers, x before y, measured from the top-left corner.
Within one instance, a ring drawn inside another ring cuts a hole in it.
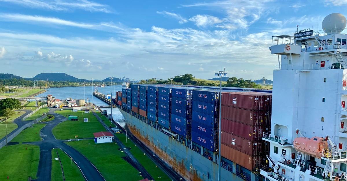
[[[171,103],[171,88],[158,87],[158,124],[167,129],[169,129],[170,118],[171,118],[170,103]],[[177,132],[178,131],[179,131],[179,128],[177,128]],[[180,130],[180,131],[183,132],[183,130]]]

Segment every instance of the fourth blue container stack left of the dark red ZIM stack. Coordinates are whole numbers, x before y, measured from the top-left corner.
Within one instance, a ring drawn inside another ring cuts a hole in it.
[[[158,119],[158,87],[156,86],[147,86],[147,119],[154,123]]]

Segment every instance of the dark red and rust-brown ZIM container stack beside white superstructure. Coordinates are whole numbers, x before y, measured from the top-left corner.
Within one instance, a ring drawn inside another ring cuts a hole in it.
[[[262,134],[270,131],[272,95],[223,92],[221,101],[221,156],[254,171],[269,154]]]

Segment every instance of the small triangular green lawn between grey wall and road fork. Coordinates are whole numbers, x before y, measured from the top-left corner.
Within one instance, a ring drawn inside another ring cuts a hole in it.
[[[40,130],[46,124],[34,124],[31,127],[24,129],[20,132],[15,138],[12,139],[11,142],[37,142],[41,140]],[[1,180],[1,179],[0,179]]]

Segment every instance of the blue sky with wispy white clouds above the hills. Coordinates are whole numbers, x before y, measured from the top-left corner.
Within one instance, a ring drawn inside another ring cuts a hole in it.
[[[272,80],[271,37],[321,30],[347,0],[0,0],[0,73]],[[346,15],[346,14],[344,14]]]

